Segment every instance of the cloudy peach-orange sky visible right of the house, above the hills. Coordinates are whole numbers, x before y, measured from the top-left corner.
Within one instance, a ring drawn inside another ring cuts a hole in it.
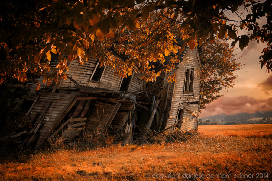
[[[231,13],[226,16],[237,19],[237,16]],[[264,21],[260,22],[261,24],[264,24]],[[240,30],[238,35],[245,32],[248,31]],[[238,75],[234,87],[229,88],[229,91],[222,90],[220,94],[224,96],[207,105],[206,109],[201,110],[200,118],[220,113],[254,113],[261,110],[272,110],[272,73],[271,71],[268,73],[266,67],[261,69],[258,62],[262,49],[266,46],[265,43],[251,41],[241,51],[236,43],[234,54],[237,54],[237,61],[245,65],[242,66],[242,69],[234,72],[235,75]]]

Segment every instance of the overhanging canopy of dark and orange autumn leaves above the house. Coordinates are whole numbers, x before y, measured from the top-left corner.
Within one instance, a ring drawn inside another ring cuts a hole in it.
[[[161,72],[152,69],[153,62],[164,65],[164,55],[173,55],[162,70],[167,72],[186,44],[193,49],[207,38],[214,44],[216,37],[225,36],[241,50],[251,40],[267,43],[260,63],[270,71],[271,8],[268,0],[5,1],[0,6],[1,82],[9,77],[25,82],[38,75],[50,84],[66,78],[67,62],[76,59],[83,64],[90,57],[111,65],[119,76],[138,71],[144,80],[154,81]],[[226,11],[241,21],[226,18]],[[262,27],[257,22],[261,17],[267,21]],[[173,45],[173,25],[182,32],[182,47]],[[248,32],[237,36],[238,29]],[[119,59],[113,52],[127,58]],[[59,64],[51,67],[54,55]]]

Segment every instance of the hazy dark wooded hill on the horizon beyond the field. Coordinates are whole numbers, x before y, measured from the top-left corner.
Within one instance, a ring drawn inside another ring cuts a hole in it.
[[[257,111],[256,113],[237,113],[232,115],[227,114],[217,114],[212,116],[202,117],[200,119],[221,119],[222,122],[244,122],[252,118],[263,118],[270,117],[272,118],[272,111]]]

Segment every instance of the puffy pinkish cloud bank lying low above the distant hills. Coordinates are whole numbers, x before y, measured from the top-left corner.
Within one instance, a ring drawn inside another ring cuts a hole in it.
[[[200,117],[216,115],[220,113],[236,114],[241,112],[255,113],[257,111],[272,110],[272,97],[268,99],[255,99],[254,97],[220,97],[213,103],[207,105]]]

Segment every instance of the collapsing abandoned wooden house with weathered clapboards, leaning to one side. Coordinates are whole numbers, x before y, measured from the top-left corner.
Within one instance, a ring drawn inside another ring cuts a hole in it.
[[[182,43],[179,40],[178,46]],[[178,59],[181,62],[168,73],[176,73],[176,82],[168,82],[168,75],[162,73],[151,83],[141,81],[139,73],[127,78],[114,76],[112,67],[100,67],[97,59],[83,65],[73,60],[66,80],[50,87],[41,85],[43,91],[34,97],[27,113],[34,125],[31,131],[5,140],[25,134],[22,144],[37,148],[57,134],[70,140],[98,130],[102,134],[122,131],[130,142],[141,126],[157,132],[196,129],[202,68],[198,49],[186,46]],[[29,86],[33,89],[34,84]]]

